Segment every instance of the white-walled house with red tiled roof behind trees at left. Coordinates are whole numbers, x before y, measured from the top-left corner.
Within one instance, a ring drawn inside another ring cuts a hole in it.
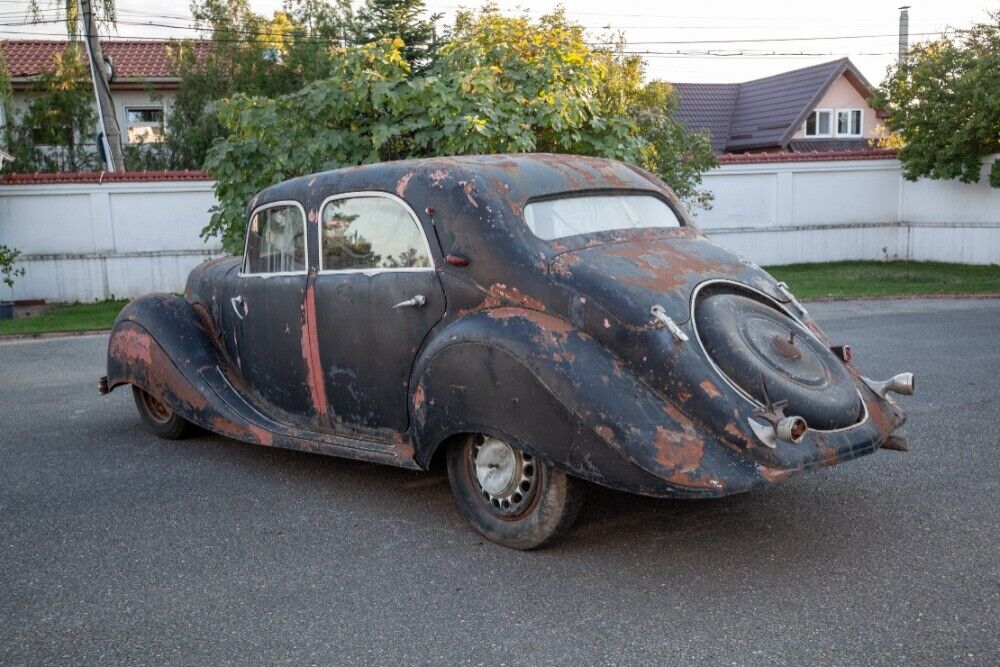
[[[101,41],[104,57],[111,61],[111,95],[123,145],[162,141],[164,118],[180,85],[170,68],[169,49],[176,44],[166,40]],[[207,51],[208,44],[196,41],[194,47],[201,53]],[[56,55],[67,45],[65,40],[0,41],[10,70],[15,112],[28,106],[38,77],[53,70]],[[5,122],[0,115],[0,125]],[[97,128],[95,136],[96,132]]]

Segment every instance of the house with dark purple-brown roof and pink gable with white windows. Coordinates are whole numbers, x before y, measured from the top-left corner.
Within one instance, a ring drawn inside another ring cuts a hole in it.
[[[716,153],[868,148],[878,112],[872,86],[848,59],[743,83],[675,83],[675,118],[708,130]]]

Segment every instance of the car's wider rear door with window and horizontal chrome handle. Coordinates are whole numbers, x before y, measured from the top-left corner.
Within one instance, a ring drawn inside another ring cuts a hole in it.
[[[407,429],[410,369],[445,312],[417,216],[398,197],[365,192],[323,202],[315,278],[319,358],[334,428]]]

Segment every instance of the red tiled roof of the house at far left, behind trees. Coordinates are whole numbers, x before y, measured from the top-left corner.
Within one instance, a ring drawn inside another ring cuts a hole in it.
[[[66,40],[3,40],[0,49],[7,59],[11,78],[29,78],[51,72],[56,54],[66,50]],[[167,47],[176,45],[167,40],[101,40],[104,55],[115,63],[119,79],[165,79],[170,71]],[[195,41],[199,55],[208,50],[209,42]]]

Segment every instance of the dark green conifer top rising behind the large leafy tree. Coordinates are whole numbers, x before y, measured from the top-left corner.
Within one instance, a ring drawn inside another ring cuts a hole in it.
[[[403,58],[414,73],[431,65],[437,50],[435,23],[441,14],[424,18],[423,0],[365,0],[353,22],[355,44],[401,39]]]

